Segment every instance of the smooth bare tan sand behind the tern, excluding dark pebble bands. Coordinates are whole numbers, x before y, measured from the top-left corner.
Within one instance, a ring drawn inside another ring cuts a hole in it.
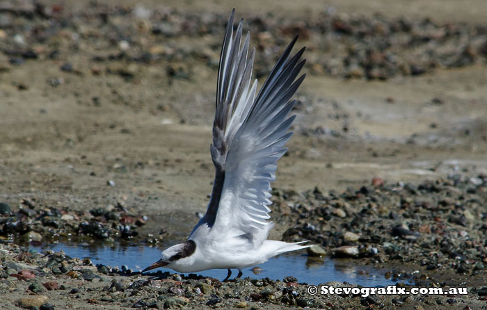
[[[43,3],[49,7],[56,1]],[[487,11],[480,0],[269,1],[265,6],[249,1],[242,8],[239,1],[141,3],[189,13],[227,14],[237,7],[244,17],[272,12],[312,18],[336,10],[461,24],[485,23]],[[63,10],[76,16],[86,6],[88,1],[65,1]],[[168,40],[182,49],[205,48],[220,44],[222,33],[223,27],[201,40],[184,35]],[[49,44],[62,46],[56,40]],[[170,238],[183,239],[195,212],[205,211],[211,191],[215,67],[178,61],[176,66],[191,68],[191,78],[175,79],[166,74],[170,63],[165,61],[136,64],[127,79],[107,73],[127,63],[95,62],[93,51],[104,52],[96,44],[81,44],[61,58],[40,57],[0,71],[0,202],[15,206],[35,197],[87,210],[122,201],[149,216],[146,233],[164,227]],[[316,53],[311,49],[306,57]],[[60,70],[67,61],[77,73]],[[99,67],[101,73],[93,74]],[[53,86],[56,79],[61,83]],[[486,83],[484,60],[387,81],[310,74],[298,93],[302,105],[295,134],[274,186],[298,192],[317,186],[327,192],[360,187],[372,177],[419,183],[456,171],[487,173]],[[280,238],[285,229],[276,227],[272,237]]]

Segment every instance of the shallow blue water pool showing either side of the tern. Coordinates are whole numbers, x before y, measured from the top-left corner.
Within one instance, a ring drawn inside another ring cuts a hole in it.
[[[89,258],[93,263],[101,263],[109,266],[128,266],[131,270],[137,271],[149,266],[157,261],[161,256],[159,247],[149,247],[147,245],[113,245],[113,246],[93,246],[87,243],[67,244],[55,243],[40,246],[31,245],[31,250],[55,252],[64,251],[71,257]],[[266,263],[258,266],[259,270],[253,268],[243,270],[243,277],[262,279],[280,279],[293,276],[298,282],[308,284],[320,284],[332,281],[349,282],[362,286],[388,286],[396,284],[394,279],[386,279],[385,272],[388,270],[375,269],[372,266],[358,266],[353,259],[316,259],[305,254],[282,254],[269,259]],[[160,268],[162,271],[173,270]],[[152,270],[155,271],[155,270]],[[237,270],[232,270],[232,277],[237,275]],[[198,275],[215,277],[223,280],[227,275],[227,270],[207,270],[195,272]]]

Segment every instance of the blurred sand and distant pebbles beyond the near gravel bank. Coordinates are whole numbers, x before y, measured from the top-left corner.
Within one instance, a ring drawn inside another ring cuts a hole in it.
[[[204,210],[232,8],[252,34],[260,85],[295,35],[296,51],[308,47],[276,187],[486,171],[486,1],[243,3],[0,1],[6,200]]]

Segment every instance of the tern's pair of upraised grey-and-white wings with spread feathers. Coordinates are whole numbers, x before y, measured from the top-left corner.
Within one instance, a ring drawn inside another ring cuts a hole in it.
[[[305,49],[290,57],[294,38],[255,97],[257,80],[250,86],[255,49],[248,55],[249,34],[241,44],[243,22],[234,34],[233,17],[234,10],[218,68],[211,145],[215,181],[201,222],[211,230],[218,227],[218,231],[254,238],[269,228],[270,183],[276,179],[277,161],[292,136],[287,130],[294,116],[287,115],[295,101],[289,100],[305,78],[303,74],[296,80],[305,63],[300,61]]]

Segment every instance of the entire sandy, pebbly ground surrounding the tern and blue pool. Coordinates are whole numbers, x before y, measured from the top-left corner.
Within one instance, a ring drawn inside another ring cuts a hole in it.
[[[487,26],[484,1],[468,2],[2,1],[6,309],[486,307]],[[257,78],[294,35],[308,47],[271,238],[309,239],[398,282],[468,295],[313,297],[292,278],[151,277],[27,251],[186,238],[211,191],[216,69],[232,4],[257,47]]]

